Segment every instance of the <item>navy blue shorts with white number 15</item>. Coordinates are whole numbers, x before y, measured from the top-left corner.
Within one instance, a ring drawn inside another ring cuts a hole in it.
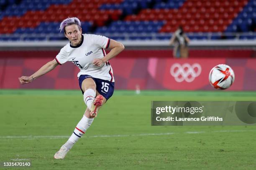
[[[115,82],[110,82],[108,80],[102,80],[102,79],[99,79],[99,78],[94,78],[94,77],[92,77],[90,75],[80,75],[79,76],[78,81],[79,81],[79,86],[80,86],[81,90],[82,90],[82,82],[86,78],[92,78],[95,81],[96,90],[102,96],[104,96],[107,100],[113,95]],[[84,94],[83,90],[82,90],[82,93]]]

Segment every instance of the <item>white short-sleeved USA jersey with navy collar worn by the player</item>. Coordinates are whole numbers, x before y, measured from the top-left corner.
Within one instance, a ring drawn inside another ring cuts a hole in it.
[[[72,46],[70,42],[61,48],[56,56],[56,61],[62,65],[71,61],[79,67],[80,75],[90,75],[102,80],[115,82],[113,70],[109,62],[105,62],[100,67],[92,64],[95,58],[102,58],[106,55],[104,48],[108,48],[110,39],[101,35],[82,34],[82,41],[77,46]]]

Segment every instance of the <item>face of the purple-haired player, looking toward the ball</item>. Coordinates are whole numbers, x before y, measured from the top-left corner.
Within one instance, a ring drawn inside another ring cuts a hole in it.
[[[65,36],[69,39],[71,42],[71,45],[77,46],[82,40],[82,28],[78,28],[78,25],[72,24],[67,27],[65,27],[66,33]]]

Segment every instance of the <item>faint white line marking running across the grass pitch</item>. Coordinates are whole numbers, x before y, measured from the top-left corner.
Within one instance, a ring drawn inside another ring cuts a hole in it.
[[[226,132],[256,132],[256,130],[218,130],[218,131],[192,131],[184,133],[145,133],[145,134],[133,134],[133,135],[94,135],[86,136],[86,138],[115,138],[115,137],[129,137],[129,136],[156,136],[156,135],[174,135],[174,134],[199,134],[199,133],[226,133]],[[61,139],[69,138],[70,136],[0,136],[0,139],[22,139],[26,138],[28,140],[46,138],[46,139]]]

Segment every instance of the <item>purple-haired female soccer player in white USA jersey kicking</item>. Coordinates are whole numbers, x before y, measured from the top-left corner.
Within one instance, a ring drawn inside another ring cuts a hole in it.
[[[75,17],[63,20],[59,29],[64,31],[70,42],[61,48],[54,60],[47,62],[34,74],[19,77],[21,84],[27,84],[67,61],[73,62],[80,69],[77,77],[87,109],[69,140],[55,153],[55,159],[66,156],[90,127],[102,104],[113,95],[115,80],[108,60],[124,50],[123,44],[115,40],[100,35],[82,34],[80,20]],[[107,55],[105,48],[110,49]]]

